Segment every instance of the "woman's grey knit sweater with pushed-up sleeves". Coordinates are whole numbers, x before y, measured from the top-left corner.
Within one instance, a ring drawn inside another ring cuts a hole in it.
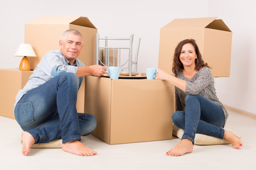
[[[216,95],[213,75],[208,67],[203,67],[200,69],[198,72],[196,72],[192,79],[187,79],[184,77],[181,70],[178,70],[176,77],[178,79],[186,80],[186,92],[175,87],[176,111],[185,111],[185,101],[187,94],[200,94],[204,98],[213,101],[213,103],[216,103],[221,108],[223,108],[226,122],[228,118],[228,112]]]

